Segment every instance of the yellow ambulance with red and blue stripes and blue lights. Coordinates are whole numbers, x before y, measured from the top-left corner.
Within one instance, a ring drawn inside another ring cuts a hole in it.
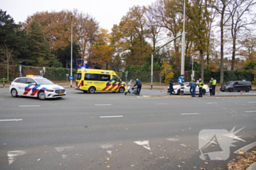
[[[124,93],[127,85],[120,80],[116,72],[102,69],[78,69],[75,89],[83,93],[95,93],[95,91],[118,91]]]

